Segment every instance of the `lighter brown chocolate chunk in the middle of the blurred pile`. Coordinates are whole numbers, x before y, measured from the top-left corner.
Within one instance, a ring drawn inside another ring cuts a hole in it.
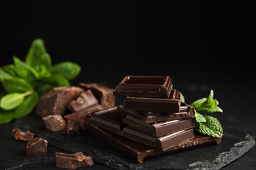
[[[70,102],[68,108],[73,112],[77,112],[82,109],[86,109],[92,105],[96,105],[98,103],[97,99],[91,92],[91,90],[87,90],[79,95],[76,100]]]

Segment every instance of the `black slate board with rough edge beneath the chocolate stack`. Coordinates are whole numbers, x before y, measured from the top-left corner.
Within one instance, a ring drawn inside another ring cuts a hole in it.
[[[61,131],[49,131],[45,129],[43,120],[35,115],[16,120],[12,127],[30,130],[35,133],[36,137],[47,139],[49,145],[62,149],[63,152],[81,151],[87,156],[92,156],[95,162],[114,169],[220,169],[240,158],[255,145],[251,135],[243,131],[228,133],[228,129],[224,129],[223,141],[219,145],[202,146],[137,163],[88,131],[81,131],[80,135],[70,136],[64,135]],[[19,161],[22,162],[22,160]],[[54,152],[51,153],[50,150],[45,156],[30,158],[27,163],[33,162],[53,163]],[[15,169],[11,165],[9,168]]]

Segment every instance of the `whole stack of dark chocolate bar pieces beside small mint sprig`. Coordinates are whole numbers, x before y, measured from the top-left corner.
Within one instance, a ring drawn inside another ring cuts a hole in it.
[[[170,76],[125,76],[114,95],[126,96],[123,106],[91,114],[89,128],[140,163],[148,156],[217,143],[194,137],[194,108],[181,102]]]

